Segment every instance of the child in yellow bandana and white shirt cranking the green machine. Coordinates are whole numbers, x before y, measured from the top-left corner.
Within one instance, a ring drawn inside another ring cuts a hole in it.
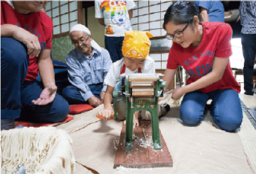
[[[114,112],[111,106],[112,95],[121,74],[155,74],[154,60],[149,57],[149,48],[152,34],[149,32],[127,31],[123,41],[123,58],[112,64],[104,82],[107,83],[107,91],[104,96],[104,109],[99,111],[104,120],[111,120]],[[119,101],[116,103],[118,119],[124,120],[126,117],[126,103]],[[138,116],[140,111],[136,111],[133,119],[133,128],[138,126]],[[144,114],[141,114],[143,117]]]

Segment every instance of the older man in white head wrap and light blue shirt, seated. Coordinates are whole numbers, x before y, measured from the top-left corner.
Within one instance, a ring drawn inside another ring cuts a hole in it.
[[[66,56],[71,85],[63,89],[62,95],[69,105],[88,103],[97,107],[103,103],[107,88],[104,78],[112,60],[108,51],[93,40],[87,27],[81,24],[73,26],[70,38],[76,47]]]

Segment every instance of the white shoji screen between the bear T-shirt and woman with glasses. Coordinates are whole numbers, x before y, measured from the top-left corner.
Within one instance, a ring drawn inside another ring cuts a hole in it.
[[[155,60],[156,69],[166,69],[171,43],[168,44],[169,47],[166,47],[166,50],[162,48],[161,43],[166,44],[166,32],[163,29],[163,16],[172,2],[166,0],[145,0],[135,1],[135,4],[136,7],[133,9],[133,18],[130,21],[132,29],[152,33],[153,38],[151,39],[150,56]]]

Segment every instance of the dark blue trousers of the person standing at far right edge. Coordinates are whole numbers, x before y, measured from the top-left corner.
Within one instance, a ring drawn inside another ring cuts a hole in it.
[[[241,33],[241,40],[243,45],[244,55],[244,91],[247,94],[252,94],[252,76],[254,74],[254,59],[256,54],[256,34],[243,34]]]

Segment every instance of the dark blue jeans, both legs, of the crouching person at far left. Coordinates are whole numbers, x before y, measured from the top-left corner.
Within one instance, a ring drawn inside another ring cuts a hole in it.
[[[29,65],[26,46],[13,38],[1,38],[1,119],[54,123],[65,119],[69,105],[56,94],[48,105],[34,105],[43,83],[24,81]]]

